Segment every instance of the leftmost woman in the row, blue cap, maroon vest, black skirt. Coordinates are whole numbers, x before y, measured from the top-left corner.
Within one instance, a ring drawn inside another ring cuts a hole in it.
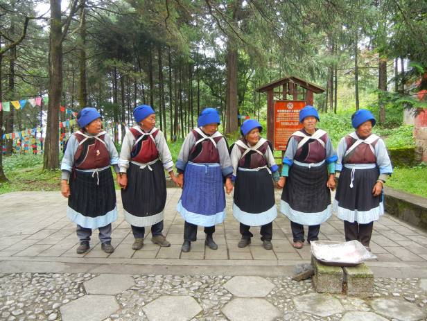
[[[77,253],[89,250],[92,229],[99,229],[104,252],[112,253],[111,223],[117,218],[116,192],[110,166],[119,173],[119,155],[101,115],[85,107],[77,115],[80,130],[67,143],[61,164],[61,193],[68,198],[67,216],[77,224]],[[119,175],[119,174],[118,174]]]

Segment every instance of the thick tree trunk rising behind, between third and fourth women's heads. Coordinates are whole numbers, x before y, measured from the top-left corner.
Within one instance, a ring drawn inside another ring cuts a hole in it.
[[[227,134],[235,132],[238,129],[237,112],[237,48],[233,40],[227,40],[227,125],[225,132]]]

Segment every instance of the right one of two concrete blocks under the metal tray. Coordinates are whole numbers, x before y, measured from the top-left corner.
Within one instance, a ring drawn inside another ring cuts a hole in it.
[[[365,264],[345,266],[344,280],[347,282],[347,295],[356,297],[372,297],[374,293],[374,273]]]

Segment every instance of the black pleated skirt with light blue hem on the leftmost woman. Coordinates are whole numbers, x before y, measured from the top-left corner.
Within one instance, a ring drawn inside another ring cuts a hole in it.
[[[74,170],[69,184],[67,216],[73,222],[98,228],[116,220],[116,191],[110,167],[97,173]]]

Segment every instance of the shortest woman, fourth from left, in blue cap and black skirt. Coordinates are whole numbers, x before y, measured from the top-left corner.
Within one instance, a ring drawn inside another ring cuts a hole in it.
[[[239,248],[251,243],[251,226],[261,226],[265,250],[272,249],[273,220],[277,217],[275,186],[279,167],[269,141],[261,137],[261,124],[249,119],[241,125],[242,138],[231,146],[234,180],[233,216],[240,222]]]

